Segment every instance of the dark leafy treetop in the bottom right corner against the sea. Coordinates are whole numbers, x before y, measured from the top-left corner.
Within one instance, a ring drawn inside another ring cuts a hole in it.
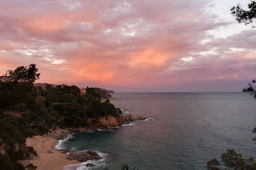
[[[221,164],[216,159],[207,162],[207,169],[209,170],[224,170],[221,169],[221,167],[227,167],[228,169],[253,170],[256,169],[256,163],[252,157],[243,159],[243,156],[240,153],[227,149],[227,153],[221,155]]]

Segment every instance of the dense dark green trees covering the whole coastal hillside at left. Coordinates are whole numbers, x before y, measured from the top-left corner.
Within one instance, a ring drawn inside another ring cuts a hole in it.
[[[36,152],[26,138],[46,134],[49,129],[88,127],[100,117],[122,113],[102,95],[87,87],[81,96],[76,86],[35,87],[40,76],[35,64],[17,67],[0,77],[0,169],[25,169],[19,160]],[[35,168],[33,165],[28,168]]]

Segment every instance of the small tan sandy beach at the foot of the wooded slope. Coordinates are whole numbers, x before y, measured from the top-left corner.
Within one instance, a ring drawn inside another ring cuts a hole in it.
[[[68,160],[67,153],[58,152],[55,148],[57,144],[58,141],[51,137],[33,136],[33,138],[27,138],[26,145],[33,146],[40,157],[38,160],[29,160],[29,162],[37,166],[38,170],[62,170],[64,166],[78,163],[77,160]],[[52,153],[48,151],[52,151]]]

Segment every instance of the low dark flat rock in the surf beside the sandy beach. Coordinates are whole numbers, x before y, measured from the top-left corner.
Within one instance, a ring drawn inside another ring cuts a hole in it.
[[[79,160],[80,162],[86,162],[88,160],[100,160],[102,157],[97,152],[86,151],[86,152],[70,152],[67,159]]]

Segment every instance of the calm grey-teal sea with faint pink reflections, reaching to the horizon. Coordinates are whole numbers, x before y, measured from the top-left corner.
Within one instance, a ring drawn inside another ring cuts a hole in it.
[[[76,133],[61,147],[94,150],[104,159],[91,169],[206,169],[233,148],[256,158],[256,99],[237,93],[116,93],[124,114],[153,118],[111,131]],[[80,166],[79,169],[86,169]]]

